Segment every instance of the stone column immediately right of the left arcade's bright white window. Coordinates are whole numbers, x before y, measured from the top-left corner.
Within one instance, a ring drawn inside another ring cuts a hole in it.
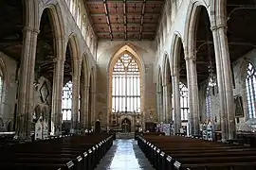
[[[77,60],[77,65],[74,67],[72,75],[72,118],[71,129],[77,133],[78,116],[79,116],[79,94],[80,94],[80,75],[81,75],[81,62]]]

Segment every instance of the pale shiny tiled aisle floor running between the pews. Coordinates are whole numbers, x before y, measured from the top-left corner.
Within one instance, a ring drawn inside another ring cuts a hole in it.
[[[96,170],[154,170],[135,140],[114,141]]]

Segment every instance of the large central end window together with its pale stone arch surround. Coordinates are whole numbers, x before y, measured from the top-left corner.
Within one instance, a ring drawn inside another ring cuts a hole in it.
[[[119,48],[108,67],[110,112],[143,112],[144,70],[143,61],[134,47],[125,44]],[[119,88],[123,88],[125,92],[119,92]],[[125,104],[122,108],[119,107],[121,103]]]

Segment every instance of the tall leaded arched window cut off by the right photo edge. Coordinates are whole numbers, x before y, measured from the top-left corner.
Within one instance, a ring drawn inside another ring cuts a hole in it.
[[[256,118],[256,72],[250,62],[247,64],[247,116],[249,119]]]

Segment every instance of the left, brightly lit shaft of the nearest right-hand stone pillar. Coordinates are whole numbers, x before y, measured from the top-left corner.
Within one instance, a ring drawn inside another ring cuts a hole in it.
[[[218,92],[220,96],[220,117],[221,117],[221,132],[222,132],[222,141],[227,141],[227,113],[225,109],[225,94],[224,94],[224,76],[223,76],[223,66],[221,61],[221,46],[218,35],[218,27],[212,26],[212,36],[214,42],[214,52],[215,52],[215,62],[216,62],[216,72],[217,72],[217,83],[218,83]]]

